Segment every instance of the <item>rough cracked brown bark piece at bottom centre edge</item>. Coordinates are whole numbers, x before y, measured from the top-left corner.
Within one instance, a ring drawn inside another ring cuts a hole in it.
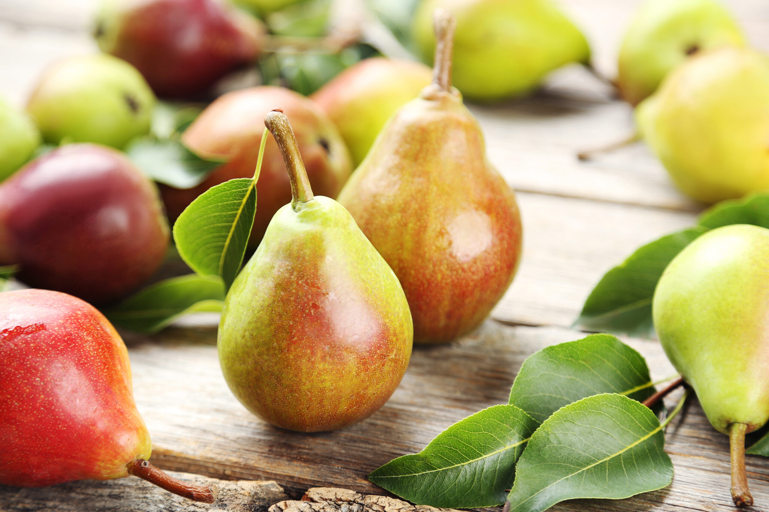
[[[394,497],[359,494],[335,487],[312,487],[300,501],[281,501],[268,512],[457,512],[453,508],[412,505]]]

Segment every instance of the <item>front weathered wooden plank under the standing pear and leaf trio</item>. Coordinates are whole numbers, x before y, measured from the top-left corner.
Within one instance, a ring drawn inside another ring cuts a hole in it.
[[[506,403],[528,355],[583,336],[489,321],[451,345],[416,347],[401,386],[384,408],[361,424],[317,434],[273,428],[238,403],[221,376],[213,329],[169,329],[151,342],[139,336],[127,341],[137,405],[155,444],[154,464],[211,477],[275,480],[291,489],[344,487],[382,494],[365,479],[368,472],[420,451],[461,418]],[[647,357],[653,378],[674,373],[657,342],[628,343]],[[727,506],[726,436],[710,427],[696,402],[679,423],[675,420],[667,434],[676,467],[671,487],[600,507]],[[769,459],[748,457],[747,464],[757,504],[769,506]],[[598,510],[581,502],[563,507],[555,510]]]

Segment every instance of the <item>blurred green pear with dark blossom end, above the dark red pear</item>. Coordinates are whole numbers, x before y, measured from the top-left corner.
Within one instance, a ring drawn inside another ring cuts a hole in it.
[[[94,142],[121,149],[148,134],[155,94],[119,58],[98,54],[53,64],[38,81],[27,111],[46,142]]]

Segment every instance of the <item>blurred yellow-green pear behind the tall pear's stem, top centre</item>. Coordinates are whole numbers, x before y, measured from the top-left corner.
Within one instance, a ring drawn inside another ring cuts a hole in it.
[[[435,8],[457,19],[452,80],[468,99],[522,96],[550,71],[590,60],[588,41],[551,0],[422,0],[411,32],[425,61],[435,48]]]

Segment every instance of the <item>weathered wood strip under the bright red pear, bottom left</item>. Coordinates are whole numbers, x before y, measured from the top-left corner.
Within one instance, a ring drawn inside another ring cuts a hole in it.
[[[12,512],[266,512],[288,496],[273,481],[227,481],[198,474],[168,471],[184,481],[213,485],[218,494],[212,504],[171,494],[140,478],[82,480],[51,487],[0,485],[0,510]]]

